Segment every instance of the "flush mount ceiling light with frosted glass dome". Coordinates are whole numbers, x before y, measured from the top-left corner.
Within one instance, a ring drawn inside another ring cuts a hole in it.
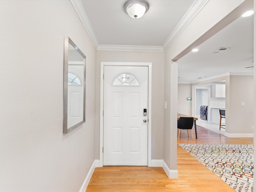
[[[148,10],[149,5],[145,0],[129,0],[124,4],[124,10],[131,18],[140,18]]]

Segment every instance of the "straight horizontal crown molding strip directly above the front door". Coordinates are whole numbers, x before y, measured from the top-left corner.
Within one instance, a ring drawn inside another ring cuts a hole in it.
[[[97,50],[164,52],[162,46],[130,46],[130,45],[99,45]]]

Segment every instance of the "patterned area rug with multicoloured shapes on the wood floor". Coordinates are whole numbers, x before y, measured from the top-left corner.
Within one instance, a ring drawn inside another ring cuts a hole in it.
[[[179,145],[237,192],[253,192],[253,145]]]

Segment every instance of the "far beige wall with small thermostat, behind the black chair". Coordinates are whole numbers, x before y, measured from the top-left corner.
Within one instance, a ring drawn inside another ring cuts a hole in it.
[[[191,84],[178,84],[178,113],[191,115],[192,100]]]

